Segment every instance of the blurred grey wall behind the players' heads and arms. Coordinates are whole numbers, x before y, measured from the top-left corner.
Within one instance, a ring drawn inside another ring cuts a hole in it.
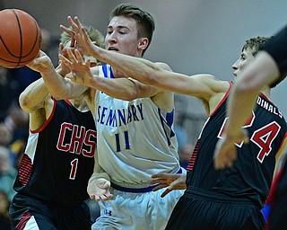
[[[48,55],[57,65],[60,24],[77,15],[84,24],[106,32],[109,12],[116,0],[2,0],[0,8],[18,8],[39,22]],[[271,36],[287,24],[286,0],[130,0],[152,14],[156,22],[152,44],[145,58],[162,61],[179,73],[209,73],[232,80],[231,65],[245,42],[255,36]],[[45,36],[44,36],[45,35]],[[287,115],[287,81],[278,85],[272,97]],[[176,95],[178,139],[188,151],[202,128],[204,108],[196,99]]]

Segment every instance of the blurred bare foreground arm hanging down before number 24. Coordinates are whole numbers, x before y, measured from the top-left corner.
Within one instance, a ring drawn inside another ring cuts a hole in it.
[[[257,96],[262,87],[271,84],[278,77],[279,69],[274,59],[265,51],[258,53],[254,62],[239,76],[230,92],[227,111],[229,119],[224,134],[215,148],[216,169],[230,167],[233,164],[237,156],[234,143],[241,140],[248,142],[247,134],[242,127],[256,106]]]

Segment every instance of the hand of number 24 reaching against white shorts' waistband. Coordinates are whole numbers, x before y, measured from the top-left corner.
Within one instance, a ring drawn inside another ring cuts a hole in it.
[[[161,194],[161,198],[165,197],[172,190],[186,190],[187,189],[187,174],[172,174],[172,173],[159,173],[152,175],[153,180],[150,184],[159,184],[153,191],[161,190],[168,187]]]

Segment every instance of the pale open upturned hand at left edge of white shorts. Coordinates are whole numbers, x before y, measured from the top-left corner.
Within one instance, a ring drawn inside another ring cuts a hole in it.
[[[114,195],[110,193],[109,188],[110,181],[105,178],[98,178],[89,182],[87,192],[91,199],[107,201],[108,199],[114,198]]]

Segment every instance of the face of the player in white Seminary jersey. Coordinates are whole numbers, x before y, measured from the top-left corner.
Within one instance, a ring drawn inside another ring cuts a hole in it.
[[[106,49],[141,57],[142,50],[139,49],[139,45],[140,40],[137,37],[137,27],[134,19],[117,16],[109,22],[105,39]]]

